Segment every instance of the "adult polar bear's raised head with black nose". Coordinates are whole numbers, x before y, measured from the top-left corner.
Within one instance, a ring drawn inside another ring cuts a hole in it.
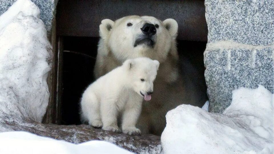
[[[120,62],[137,57],[164,61],[172,44],[176,44],[177,31],[174,19],[160,21],[149,16],[104,19],[100,25],[101,42]]]

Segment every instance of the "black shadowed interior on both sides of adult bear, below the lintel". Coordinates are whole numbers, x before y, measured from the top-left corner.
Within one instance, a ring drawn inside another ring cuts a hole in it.
[[[64,37],[63,104],[61,124],[80,124],[79,101],[85,88],[94,81],[93,68],[98,37]],[[204,80],[203,52],[206,42],[178,40],[180,60],[189,60]],[[69,52],[68,52],[69,51]],[[193,70],[184,70],[192,72]]]

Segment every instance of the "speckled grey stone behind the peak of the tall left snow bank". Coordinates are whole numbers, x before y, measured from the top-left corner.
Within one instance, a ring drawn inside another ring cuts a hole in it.
[[[2,15],[17,0],[0,0],[0,15]],[[55,17],[55,9],[58,0],[31,0],[41,13],[40,19],[44,22],[48,32],[51,31],[52,19]]]

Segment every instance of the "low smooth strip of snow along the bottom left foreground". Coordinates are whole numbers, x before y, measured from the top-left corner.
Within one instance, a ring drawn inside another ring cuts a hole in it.
[[[0,133],[1,154],[86,154],[86,153],[117,153],[129,154],[131,152],[106,141],[88,141],[73,144],[66,141],[41,137],[24,131],[11,131]]]

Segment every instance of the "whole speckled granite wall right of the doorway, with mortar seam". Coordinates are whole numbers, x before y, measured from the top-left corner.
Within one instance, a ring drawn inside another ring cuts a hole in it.
[[[209,111],[222,113],[239,87],[261,84],[274,92],[274,1],[206,0],[205,6]]]

